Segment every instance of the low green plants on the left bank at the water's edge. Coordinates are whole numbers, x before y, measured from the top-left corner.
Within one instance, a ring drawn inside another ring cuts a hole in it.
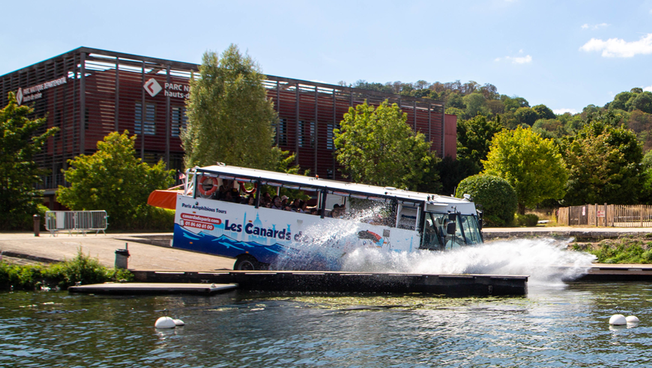
[[[81,248],[74,259],[49,266],[0,262],[0,289],[5,290],[38,290],[46,287],[65,290],[76,283],[83,285],[133,279],[133,274],[128,270],[106,268],[97,259],[84,255]]]

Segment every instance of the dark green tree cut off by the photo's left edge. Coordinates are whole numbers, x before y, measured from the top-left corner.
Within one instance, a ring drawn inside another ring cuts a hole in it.
[[[45,119],[29,119],[34,110],[18,106],[13,92],[8,94],[8,104],[0,110],[0,229],[29,229],[37,214],[41,191],[35,184],[42,182],[46,172],[34,162],[45,141],[59,128],[50,128],[37,134]]]

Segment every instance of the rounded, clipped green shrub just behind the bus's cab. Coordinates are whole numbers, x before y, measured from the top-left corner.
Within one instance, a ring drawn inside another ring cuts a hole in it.
[[[462,180],[456,197],[471,195],[484,212],[484,222],[490,226],[510,225],[516,212],[516,191],[503,178],[493,175],[473,175]]]

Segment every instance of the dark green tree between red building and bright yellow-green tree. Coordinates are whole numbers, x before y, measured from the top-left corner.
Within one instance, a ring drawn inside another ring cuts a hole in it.
[[[459,120],[457,123],[457,156],[469,158],[478,167],[482,167],[482,160],[486,160],[489,147],[494,135],[503,130],[500,117],[487,120],[482,115],[473,119]]]

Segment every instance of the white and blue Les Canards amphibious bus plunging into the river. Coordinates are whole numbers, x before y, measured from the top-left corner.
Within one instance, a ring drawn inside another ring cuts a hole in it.
[[[234,258],[235,270],[340,270],[359,248],[443,251],[482,243],[481,212],[467,195],[223,164],[186,170],[183,191],[155,191],[149,203],[176,209],[173,247]]]

